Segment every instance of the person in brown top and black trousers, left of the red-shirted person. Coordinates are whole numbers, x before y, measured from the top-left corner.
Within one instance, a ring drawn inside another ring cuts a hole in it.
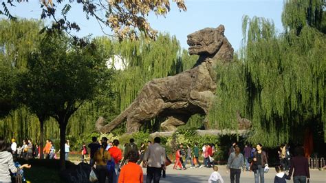
[[[111,155],[105,149],[107,148],[107,142],[103,142],[100,149],[98,149],[93,156],[94,163],[96,164],[96,172],[98,173],[98,182],[105,183],[107,177],[109,178],[109,172],[107,170],[107,162],[111,160]],[[93,166],[91,166],[92,169]],[[112,180],[109,180],[112,182]]]

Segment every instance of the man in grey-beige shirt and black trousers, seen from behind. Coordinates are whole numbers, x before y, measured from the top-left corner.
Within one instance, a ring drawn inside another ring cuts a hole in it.
[[[154,144],[149,146],[145,155],[144,155],[144,163],[147,164],[147,177],[146,183],[151,183],[152,180],[154,183],[160,182],[162,169],[165,169],[165,164],[162,166],[162,162],[165,162],[165,150],[160,145],[161,138],[155,137]]]

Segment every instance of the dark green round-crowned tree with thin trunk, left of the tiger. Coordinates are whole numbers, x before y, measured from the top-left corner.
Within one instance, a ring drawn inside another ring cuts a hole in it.
[[[105,60],[96,45],[76,42],[63,34],[45,36],[28,57],[21,74],[25,104],[39,117],[51,116],[60,129],[61,169],[65,169],[65,132],[69,118],[107,83]]]

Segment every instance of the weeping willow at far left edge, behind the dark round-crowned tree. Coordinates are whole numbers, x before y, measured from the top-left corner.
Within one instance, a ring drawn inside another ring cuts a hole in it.
[[[16,74],[26,66],[26,57],[39,43],[41,21],[0,19],[0,117],[18,107],[14,101]]]

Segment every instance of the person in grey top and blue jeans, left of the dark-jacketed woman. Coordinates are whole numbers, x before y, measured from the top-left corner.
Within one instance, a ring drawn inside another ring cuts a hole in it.
[[[240,147],[236,144],[235,151],[230,153],[228,157],[227,169],[230,169],[230,180],[231,183],[240,182],[241,168],[244,170],[244,158],[240,153]]]

